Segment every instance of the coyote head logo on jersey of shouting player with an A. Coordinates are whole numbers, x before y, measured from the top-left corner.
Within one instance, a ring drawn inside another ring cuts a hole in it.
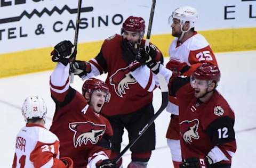
[[[69,129],[75,132],[73,137],[74,146],[86,145],[88,141],[96,144],[100,136],[105,133],[106,125],[94,124],[93,122],[72,122],[69,123]]]

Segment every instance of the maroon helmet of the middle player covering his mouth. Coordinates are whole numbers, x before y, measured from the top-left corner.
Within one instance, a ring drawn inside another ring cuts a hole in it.
[[[129,18],[124,21],[122,29],[126,31],[142,31],[144,33],[145,20],[141,17],[129,16]]]

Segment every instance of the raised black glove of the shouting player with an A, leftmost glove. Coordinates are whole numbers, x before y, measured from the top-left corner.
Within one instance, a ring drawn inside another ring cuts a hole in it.
[[[51,56],[53,62],[61,62],[67,66],[76,56],[76,47],[68,40],[61,41],[54,46]]]

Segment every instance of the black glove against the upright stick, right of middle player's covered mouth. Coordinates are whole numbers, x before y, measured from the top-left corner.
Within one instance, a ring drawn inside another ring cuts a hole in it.
[[[140,47],[136,60],[140,63],[145,63],[155,74],[159,72],[160,63],[156,61],[156,48],[153,46]]]

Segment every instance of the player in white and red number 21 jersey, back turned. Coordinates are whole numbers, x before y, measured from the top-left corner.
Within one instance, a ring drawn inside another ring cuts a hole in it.
[[[47,113],[44,100],[29,96],[22,105],[26,126],[19,131],[12,167],[73,167],[69,157],[59,159],[59,139],[44,127]]]

